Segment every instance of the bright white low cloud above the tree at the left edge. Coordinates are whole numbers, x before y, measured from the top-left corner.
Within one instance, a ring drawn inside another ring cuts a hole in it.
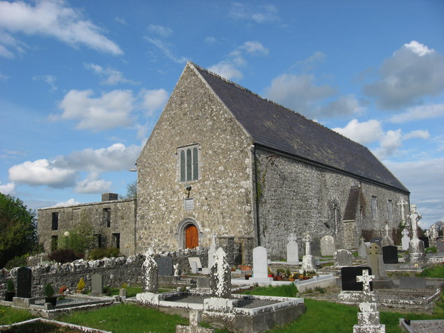
[[[74,185],[76,171],[56,167],[54,161],[42,159],[10,167],[9,179],[31,186],[48,185],[49,187],[63,188]]]

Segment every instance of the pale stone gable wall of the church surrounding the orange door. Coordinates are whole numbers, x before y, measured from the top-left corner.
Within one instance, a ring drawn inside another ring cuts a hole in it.
[[[197,145],[199,178],[180,182],[178,148]],[[198,227],[199,246],[211,235],[254,237],[252,141],[187,65],[137,160],[137,251],[183,248],[181,221]],[[184,209],[185,184],[194,210]]]

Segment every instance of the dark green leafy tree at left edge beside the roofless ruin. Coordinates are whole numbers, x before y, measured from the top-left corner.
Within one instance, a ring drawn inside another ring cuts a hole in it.
[[[0,193],[0,267],[37,246],[35,212],[19,198]]]

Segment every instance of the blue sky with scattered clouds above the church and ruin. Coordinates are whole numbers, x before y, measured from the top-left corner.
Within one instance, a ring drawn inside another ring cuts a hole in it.
[[[187,60],[368,146],[444,219],[444,1],[0,1],[0,191],[126,194]]]

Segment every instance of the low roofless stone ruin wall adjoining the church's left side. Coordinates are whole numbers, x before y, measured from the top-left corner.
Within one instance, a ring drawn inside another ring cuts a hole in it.
[[[108,228],[103,220],[103,209],[110,208],[111,221]],[[51,230],[52,214],[58,213],[58,230]],[[136,200],[111,200],[68,207],[50,207],[38,210],[37,232],[40,244],[51,251],[51,237],[62,240],[67,230],[73,230],[80,221],[94,226],[94,234],[101,234],[103,247],[114,247],[112,234],[120,234],[121,255],[135,254]]]

